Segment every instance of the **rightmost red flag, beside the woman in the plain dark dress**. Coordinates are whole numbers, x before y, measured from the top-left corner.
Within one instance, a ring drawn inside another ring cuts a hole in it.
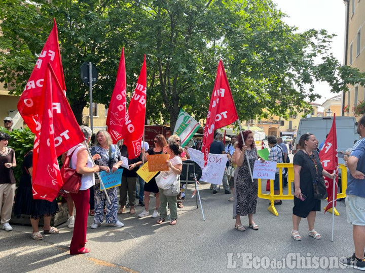
[[[319,158],[322,163],[323,169],[325,169],[329,173],[333,173],[334,171],[336,171],[336,174],[338,174],[336,114],[334,114],[331,130],[322,146],[321,151],[319,152]],[[327,210],[333,207],[333,200],[336,207],[338,177],[336,177],[335,183],[335,199],[333,199],[333,179],[324,177],[324,181],[328,194],[328,204],[324,210],[325,213]]]

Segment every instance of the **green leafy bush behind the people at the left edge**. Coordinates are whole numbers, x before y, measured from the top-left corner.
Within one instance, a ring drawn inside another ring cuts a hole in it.
[[[15,151],[17,166],[14,168],[14,175],[18,183],[22,174],[21,168],[24,156],[27,152],[33,149],[34,134],[29,130],[29,128],[9,132],[6,128],[0,127],[0,131],[6,132],[10,135],[8,147],[13,148]]]

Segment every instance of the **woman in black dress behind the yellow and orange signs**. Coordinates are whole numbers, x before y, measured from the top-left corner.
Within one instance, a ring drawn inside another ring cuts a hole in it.
[[[147,150],[147,153],[144,154],[144,149],[142,149],[144,162],[148,160],[149,155],[157,155],[157,154],[165,154],[167,151],[167,142],[165,136],[163,134],[158,134],[155,136],[154,140],[155,148],[150,148]],[[156,184],[155,177],[159,174],[158,172],[149,183],[144,183],[144,211],[138,214],[138,217],[144,217],[150,215],[148,208],[150,205],[150,194],[156,194],[156,208],[153,212],[151,218],[157,218],[159,216],[158,208],[160,206],[160,195],[159,190]]]

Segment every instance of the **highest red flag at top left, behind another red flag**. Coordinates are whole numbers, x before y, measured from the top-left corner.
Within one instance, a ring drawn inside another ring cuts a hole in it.
[[[55,19],[53,19],[53,24],[53,29],[35,63],[33,72],[31,73],[18,102],[19,113],[33,133],[36,132],[37,122],[40,122],[39,117],[42,114],[42,112],[40,112],[40,109],[43,109],[43,106],[41,105],[41,94],[48,63],[51,64],[56,77],[61,84],[61,90],[66,90]]]

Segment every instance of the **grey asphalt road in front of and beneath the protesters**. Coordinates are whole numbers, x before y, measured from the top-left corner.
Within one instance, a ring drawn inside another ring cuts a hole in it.
[[[189,186],[188,197],[192,187]],[[1,271],[225,272],[257,267],[257,272],[327,272],[330,266],[339,267],[336,262],[339,257],[353,253],[352,226],[346,222],[344,202],[337,205],[340,216],[335,216],[334,242],[331,242],[332,214],[323,211],[317,213],[316,219],[316,230],[322,239],[315,240],[306,234],[307,221],[303,219],[300,225],[303,240],[295,241],[290,237],[293,201],[283,201],[283,205],[277,206],[279,216],[274,216],[267,210],[268,201],[259,199],[254,215],[259,231],[249,229],[247,217],[242,217],[246,231],[238,232],[234,230],[230,195],[224,191],[213,195],[208,184],[200,186],[200,194],[205,221],[191,199],[185,202],[184,209],[178,210],[175,226],[168,222],[156,224],[156,219],[150,217],[138,218],[143,208],[137,206],[133,216],[128,210],[119,215],[124,228],[105,223],[95,230],[88,228],[87,247],[91,252],[83,255],[68,254],[72,230],[67,223],[58,226],[60,234],[45,235],[41,241],[31,239],[30,226],[13,225],[11,232],[0,230]],[[322,201],[322,207],[325,202]],[[154,203],[152,198],[150,213]],[[92,222],[89,217],[89,225]]]

